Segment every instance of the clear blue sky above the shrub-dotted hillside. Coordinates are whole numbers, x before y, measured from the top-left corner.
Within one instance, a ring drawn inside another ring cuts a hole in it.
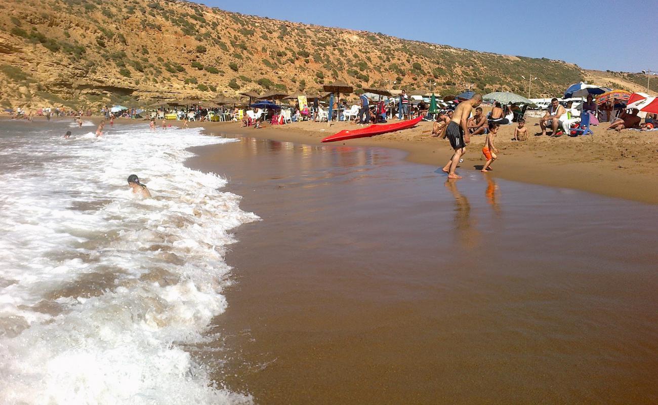
[[[196,1],[277,20],[561,59],[582,68],[658,70],[658,0]]]

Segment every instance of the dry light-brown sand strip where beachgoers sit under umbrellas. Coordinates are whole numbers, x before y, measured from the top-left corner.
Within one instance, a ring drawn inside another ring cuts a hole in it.
[[[395,122],[395,121],[393,121]],[[491,176],[508,180],[574,188],[605,196],[625,198],[645,203],[658,203],[658,131],[606,131],[607,124],[593,126],[593,136],[535,136],[541,132],[539,119],[528,119],[528,140],[512,141],[516,124],[503,125],[495,144],[499,149]],[[363,128],[356,124],[326,122],[293,122],[261,129],[241,128],[230,122],[191,122],[190,126],[204,126],[210,132],[247,134],[268,138],[319,144],[325,136],[343,129]],[[432,138],[432,122],[420,122],[415,128],[374,136],[336,142],[349,146],[379,146],[407,151],[407,159],[416,163],[443,166],[451,157],[447,140]],[[459,171],[475,170],[484,164],[482,144],[484,136],[473,136]]]

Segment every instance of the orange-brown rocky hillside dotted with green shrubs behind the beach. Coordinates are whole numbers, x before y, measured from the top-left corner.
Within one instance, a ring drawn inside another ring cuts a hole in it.
[[[532,96],[584,78],[576,65],[246,16],[166,0],[0,0],[0,103],[98,105],[279,89],[340,78],[455,94]]]

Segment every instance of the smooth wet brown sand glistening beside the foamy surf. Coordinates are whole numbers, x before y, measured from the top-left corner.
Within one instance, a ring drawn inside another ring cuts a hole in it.
[[[655,205],[391,149],[193,151],[263,219],[200,352],[257,404],[658,402]]]

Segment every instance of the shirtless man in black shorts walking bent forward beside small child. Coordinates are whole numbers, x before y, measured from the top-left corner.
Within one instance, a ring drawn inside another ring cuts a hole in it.
[[[475,94],[470,100],[462,101],[457,105],[453,118],[445,128],[445,136],[450,141],[450,146],[455,149],[455,153],[443,167],[443,171],[448,174],[448,178],[461,178],[455,174],[455,169],[459,164],[459,159],[466,153],[466,146],[470,143],[470,134],[468,133],[468,117],[474,107],[482,104],[482,94]]]

